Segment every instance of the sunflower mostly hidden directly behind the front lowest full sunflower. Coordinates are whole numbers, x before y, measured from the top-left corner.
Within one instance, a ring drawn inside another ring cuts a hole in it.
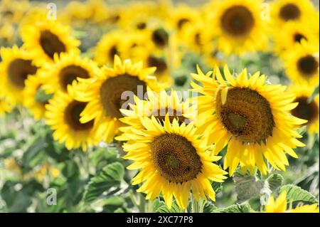
[[[196,117],[196,112],[191,111],[189,107],[189,102],[183,102],[179,93],[171,89],[171,93],[168,95],[166,91],[162,90],[160,93],[155,93],[146,88],[147,90],[147,100],[140,100],[137,96],[134,97],[134,104],[131,104],[130,110],[120,110],[123,117],[120,121],[128,126],[120,127],[121,132],[128,132],[132,127],[134,128],[143,128],[139,117],[151,117],[154,116],[156,120],[159,120],[160,123],[164,120],[166,115],[169,116],[169,120],[172,123],[174,119],[178,120],[179,125],[183,122],[187,125],[190,122],[193,122],[193,119]],[[193,107],[195,107],[193,105]],[[122,137],[116,137],[117,140],[122,140]],[[124,137],[124,140],[127,140]]]

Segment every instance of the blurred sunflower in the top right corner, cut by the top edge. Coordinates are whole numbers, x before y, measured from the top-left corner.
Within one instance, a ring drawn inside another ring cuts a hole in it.
[[[316,19],[316,9],[309,0],[277,0],[272,2],[271,17],[274,28],[282,28],[288,21],[309,23],[311,17]]]

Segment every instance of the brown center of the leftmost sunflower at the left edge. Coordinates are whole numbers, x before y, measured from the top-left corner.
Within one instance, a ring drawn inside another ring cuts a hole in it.
[[[38,68],[32,64],[31,60],[17,58],[12,60],[8,66],[7,73],[9,80],[18,88],[24,88],[24,82],[28,75],[36,74]]]

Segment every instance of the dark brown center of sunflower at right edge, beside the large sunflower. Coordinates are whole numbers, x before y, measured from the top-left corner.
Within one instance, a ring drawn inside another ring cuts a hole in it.
[[[316,102],[308,102],[308,97],[297,97],[294,102],[299,102],[297,107],[292,110],[294,117],[299,117],[304,120],[308,120],[306,125],[311,124],[319,117],[319,107]]]

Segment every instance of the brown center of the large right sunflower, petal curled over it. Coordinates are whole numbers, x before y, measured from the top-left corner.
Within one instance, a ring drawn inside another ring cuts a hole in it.
[[[216,100],[218,119],[242,142],[265,142],[272,136],[274,120],[270,103],[255,90],[232,88],[223,105],[219,91]]]

